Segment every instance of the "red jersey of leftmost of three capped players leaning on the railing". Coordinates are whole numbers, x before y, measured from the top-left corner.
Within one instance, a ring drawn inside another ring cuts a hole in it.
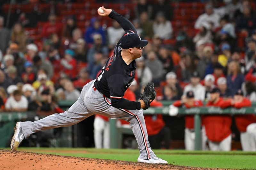
[[[181,103],[181,100],[177,100],[173,103],[173,105],[175,107],[181,107],[182,106],[182,103]],[[188,104],[184,104],[184,106],[186,108],[191,108],[191,107],[201,107],[203,106],[203,102],[201,100],[195,100],[194,103],[193,103],[193,106],[189,106]],[[194,129],[194,115],[186,115],[185,116],[185,128],[188,128],[188,129]]]

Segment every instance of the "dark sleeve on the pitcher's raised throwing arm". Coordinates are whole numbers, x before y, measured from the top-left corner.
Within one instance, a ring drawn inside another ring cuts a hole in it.
[[[108,16],[109,18],[115,19],[122,26],[125,32],[132,31],[133,33],[137,33],[137,30],[132,25],[131,21],[129,21],[127,18],[120,15],[116,11],[112,10]]]

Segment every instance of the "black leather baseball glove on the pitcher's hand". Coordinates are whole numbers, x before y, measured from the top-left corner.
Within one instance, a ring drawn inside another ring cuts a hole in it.
[[[144,110],[150,107],[150,103],[155,99],[155,97],[156,97],[156,91],[154,89],[154,83],[148,83],[144,88],[144,92],[140,94],[140,100],[143,100],[145,103]]]

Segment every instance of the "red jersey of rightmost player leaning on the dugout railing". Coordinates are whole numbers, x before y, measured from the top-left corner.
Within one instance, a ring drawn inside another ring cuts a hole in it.
[[[251,107],[252,102],[246,98],[243,99],[242,102],[236,103],[234,105],[231,105],[231,100],[223,101],[221,103],[221,107]],[[246,128],[249,124],[256,122],[256,116],[255,115],[235,115],[235,121],[236,121],[236,127],[239,130],[239,132],[246,132]]]

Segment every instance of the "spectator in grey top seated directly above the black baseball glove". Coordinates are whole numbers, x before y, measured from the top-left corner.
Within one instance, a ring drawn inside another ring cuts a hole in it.
[[[154,51],[150,51],[147,56],[145,66],[152,72],[153,83],[159,85],[160,80],[163,77],[163,63],[158,59]]]

